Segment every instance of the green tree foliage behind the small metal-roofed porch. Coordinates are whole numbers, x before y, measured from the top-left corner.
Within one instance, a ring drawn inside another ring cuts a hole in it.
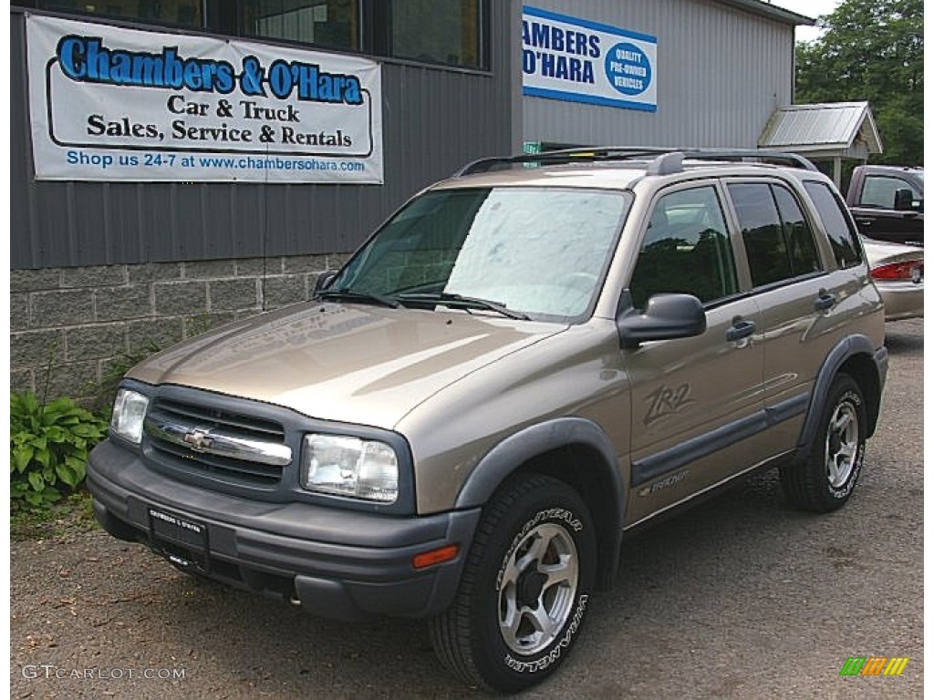
[[[924,161],[924,0],[843,0],[824,35],[796,49],[796,101],[868,100],[882,136],[876,161]]]

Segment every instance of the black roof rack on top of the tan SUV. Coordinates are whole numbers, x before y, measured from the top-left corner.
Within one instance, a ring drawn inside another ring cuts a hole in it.
[[[461,168],[455,177],[508,170],[517,164],[559,165],[572,162],[644,161],[652,158],[648,172],[668,175],[683,169],[686,158],[701,161],[741,161],[782,164],[804,170],[817,168],[813,162],[797,153],[757,150],[756,148],[664,148],[664,147],[577,147],[561,148],[544,153],[522,153],[517,156],[482,158]]]

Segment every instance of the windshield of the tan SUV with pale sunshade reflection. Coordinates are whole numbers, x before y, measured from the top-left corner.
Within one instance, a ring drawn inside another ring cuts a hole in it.
[[[589,189],[428,192],[361,248],[329,292],[579,318],[600,288],[630,203],[627,192]]]

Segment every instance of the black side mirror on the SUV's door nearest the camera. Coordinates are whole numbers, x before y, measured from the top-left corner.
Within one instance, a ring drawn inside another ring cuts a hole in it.
[[[639,347],[649,341],[690,338],[707,329],[703,304],[690,294],[655,294],[639,313],[632,308],[629,293],[616,315],[619,342],[625,348]]]

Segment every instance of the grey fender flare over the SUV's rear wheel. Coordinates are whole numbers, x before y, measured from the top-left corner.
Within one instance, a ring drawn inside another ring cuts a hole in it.
[[[804,418],[804,425],[801,426],[798,438],[795,451],[796,461],[807,459],[811,443],[814,441],[814,435],[820,428],[820,416],[824,410],[825,399],[834,377],[837,376],[837,372],[840,371],[847,360],[856,356],[868,357],[875,364],[878,372],[876,379],[879,383],[879,396],[866,397],[871,407],[871,410],[867,412],[870,422],[869,426],[867,426],[867,437],[875,432],[882,402],[882,390],[885,385],[885,374],[888,371],[888,350],[884,346],[877,348],[865,335],[848,335],[840,343],[834,345],[824,360],[820,371],[817,372],[814,389],[811,391],[811,400]],[[858,381],[859,378],[856,377],[856,380]]]

